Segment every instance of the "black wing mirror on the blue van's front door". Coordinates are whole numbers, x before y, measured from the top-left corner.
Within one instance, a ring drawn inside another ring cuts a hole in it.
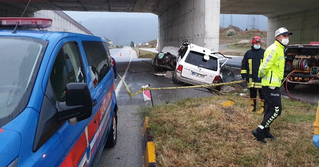
[[[59,103],[59,122],[71,119],[76,124],[92,115],[92,96],[86,83],[68,83],[65,98],[65,102]]]

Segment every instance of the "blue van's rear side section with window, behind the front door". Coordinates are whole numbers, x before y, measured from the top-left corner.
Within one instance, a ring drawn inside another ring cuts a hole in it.
[[[107,138],[107,132],[111,124],[111,100],[114,90],[114,75],[111,69],[111,56],[102,41],[83,41],[85,57],[90,69],[90,75],[94,89],[92,98],[97,102],[98,115],[98,149],[100,155],[103,151],[103,144]]]

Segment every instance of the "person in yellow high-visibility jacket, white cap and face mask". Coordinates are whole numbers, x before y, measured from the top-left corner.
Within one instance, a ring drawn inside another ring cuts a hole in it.
[[[258,77],[262,78],[261,85],[267,108],[263,121],[251,133],[263,143],[266,143],[265,138],[276,139],[270,133],[270,125],[282,111],[280,86],[285,70],[284,49],[289,43],[289,35],[292,34],[285,27],[276,30],[276,40],[266,49],[263,63],[259,67]]]

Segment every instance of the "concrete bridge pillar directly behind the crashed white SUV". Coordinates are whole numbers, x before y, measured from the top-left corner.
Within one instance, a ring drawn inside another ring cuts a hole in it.
[[[159,49],[190,43],[218,51],[220,0],[179,0],[159,15]]]

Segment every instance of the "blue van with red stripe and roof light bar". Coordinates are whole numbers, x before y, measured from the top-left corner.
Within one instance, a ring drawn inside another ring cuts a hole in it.
[[[0,18],[46,28],[51,19]],[[0,167],[97,166],[117,141],[117,100],[105,39],[0,30]]]

